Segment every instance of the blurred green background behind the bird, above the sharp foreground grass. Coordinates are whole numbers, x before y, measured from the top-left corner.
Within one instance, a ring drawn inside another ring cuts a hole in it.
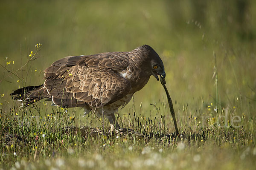
[[[2,109],[10,108],[9,94],[22,86],[6,71],[20,68],[38,43],[41,51],[29,68],[26,85],[43,83],[40,71],[62,57],[131,51],[148,44],[164,62],[167,88],[178,112],[186,104],[196,109],[202,97],[206,107],[215,105],[215,51],[221,108],[242,105],[241,113],[251,113],[256,102],[255,9],[254,0],[2,0]],[[9,61],[14,64],[6,65]],[[21,77],[26,71],[16,73]],[[152,77],[135,94],[134,103],[153,109],[149,104],[164,97],[160,82]]]

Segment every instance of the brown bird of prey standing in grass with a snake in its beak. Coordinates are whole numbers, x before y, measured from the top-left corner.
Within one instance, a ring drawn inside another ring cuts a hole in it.
[[[129,52],[69,56],[44,70],[44,84],[17,89],[11,94],[24,106],[41,99],[62,108],[84,107],[86,113],[104,114],[111,130],[119,130],[115,115],[153,75],[165,77],[163,62],[149,45]],[[115,125],[116,123],[116,125]]]

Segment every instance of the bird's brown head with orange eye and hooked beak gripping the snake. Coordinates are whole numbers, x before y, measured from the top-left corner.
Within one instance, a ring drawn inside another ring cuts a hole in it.
[[[159,80],[158,75],[165,78],[166,73],[164,71],[163,61],[157,52],[149,45],[143,45],[139,48],[143,51],[145,57],[145,65],[143,65],[144,70],[149,75],[156,77],[157,81]]]

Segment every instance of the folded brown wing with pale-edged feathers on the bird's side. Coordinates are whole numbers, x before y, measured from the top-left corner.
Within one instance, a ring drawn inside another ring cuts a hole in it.
[[[128,65],[128,52],[65,57],[44,70],[44,86],[61,107],[101,107],[130,92],[130,82],[118,73]]]

